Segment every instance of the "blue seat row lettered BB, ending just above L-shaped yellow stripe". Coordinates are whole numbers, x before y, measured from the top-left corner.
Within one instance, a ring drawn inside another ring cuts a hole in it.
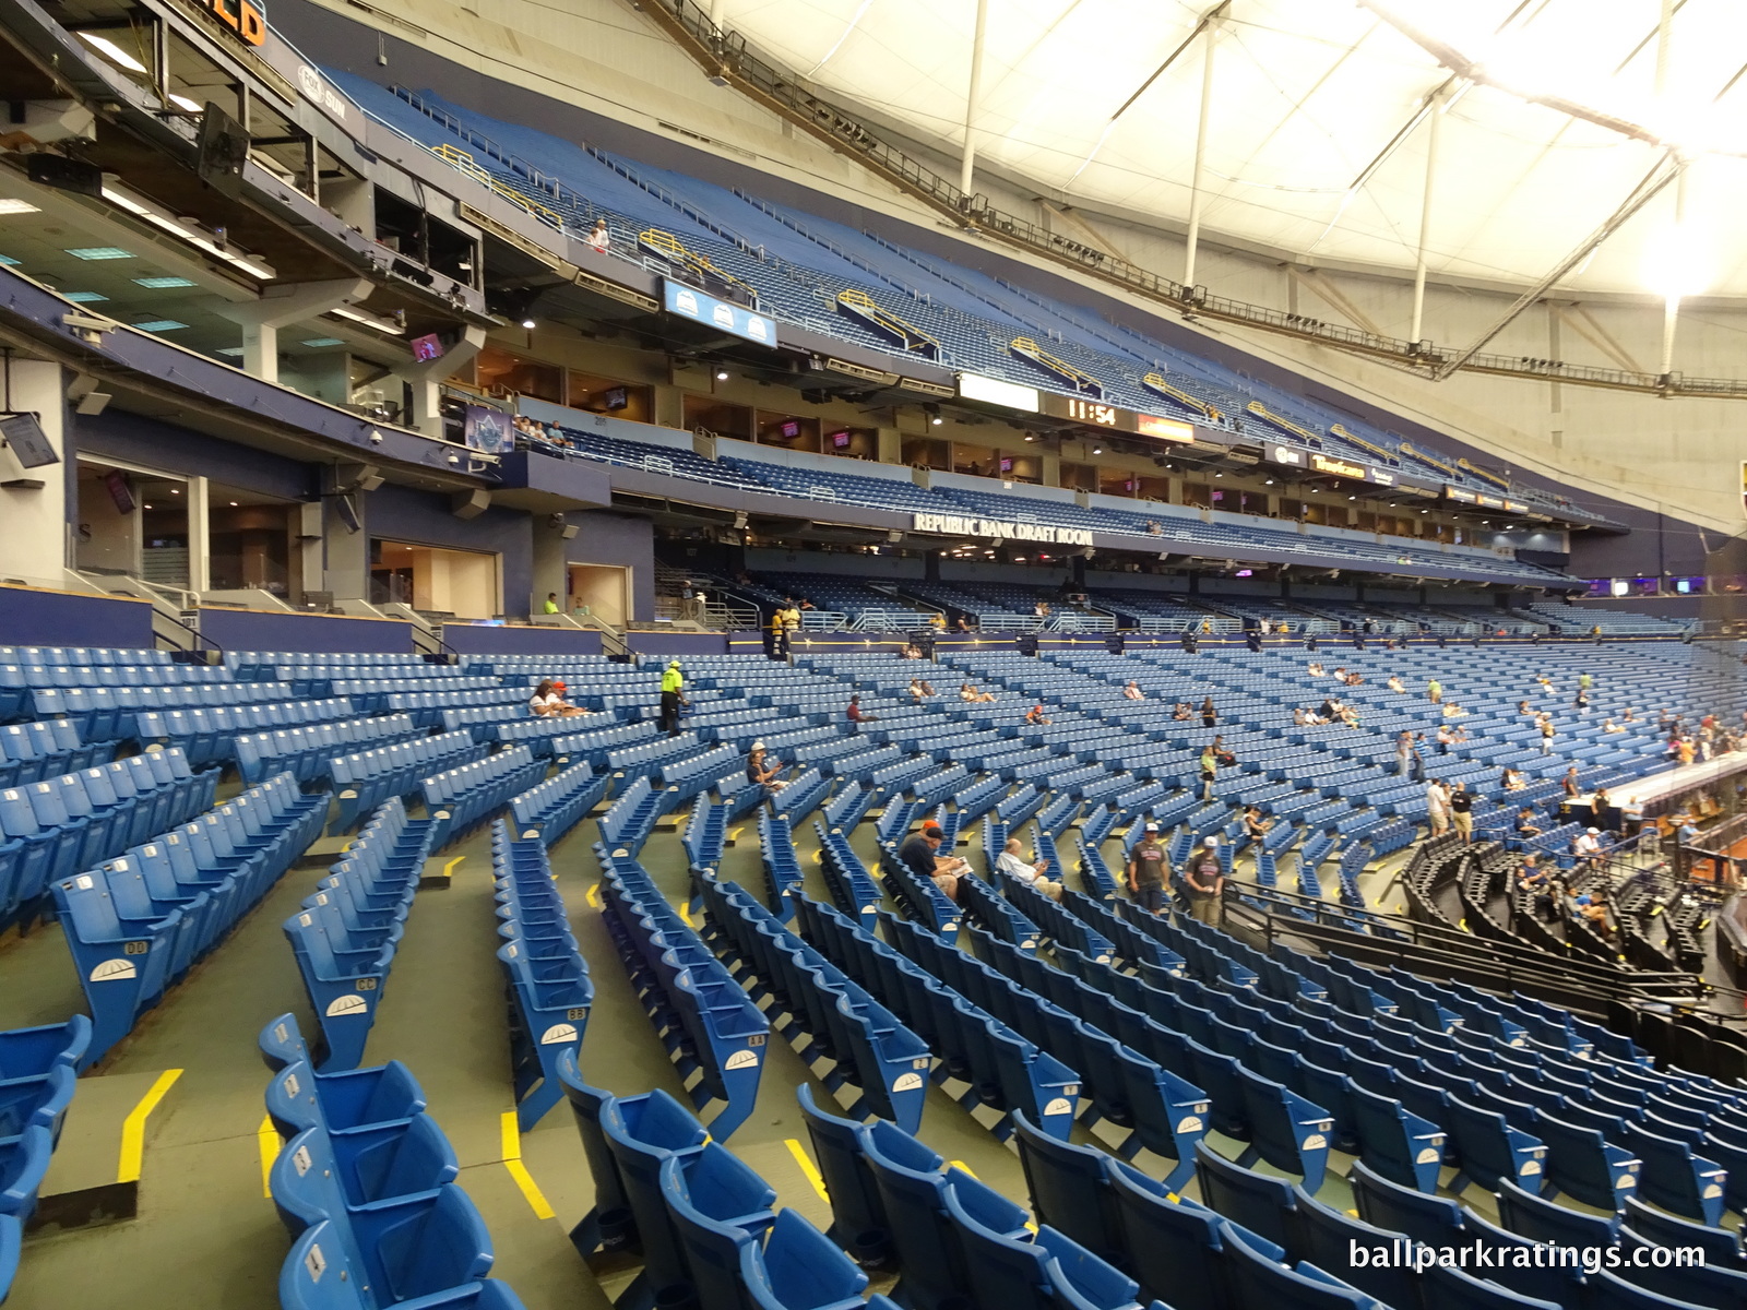
[[[594,1004],[594,982],[582,957],[564,896],[552,877],[545,842],[512,840],[503,823],[491,830],[496,879],[498,948],[510,999],[510,1071],[515,1114],[531,1130],[563,1097],[557,1067],[577,1058]]]

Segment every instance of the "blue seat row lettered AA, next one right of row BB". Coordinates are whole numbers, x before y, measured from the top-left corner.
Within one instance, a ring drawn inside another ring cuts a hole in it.
[[[709,1125],[727,1141],[758,1099],[770,1020],[636,859],[599,844],[594,854],[606,931],[638,999],[678,1062],[692,1104],[727,1102]]]

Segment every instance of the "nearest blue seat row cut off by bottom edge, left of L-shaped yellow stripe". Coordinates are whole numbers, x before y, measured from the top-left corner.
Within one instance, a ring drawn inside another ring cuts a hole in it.
[[[292,1249],[283,1310],[521,1310],[459,1163],[398,1060],[318,1074],[292,1015],[260,1036],[281,1135],[267,1189]]]

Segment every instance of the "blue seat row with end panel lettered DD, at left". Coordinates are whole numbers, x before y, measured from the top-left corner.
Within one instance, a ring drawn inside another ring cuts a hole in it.
[[[321,831],[325,796],[280,774],[119,859],[51,884],[100,1060]]]

